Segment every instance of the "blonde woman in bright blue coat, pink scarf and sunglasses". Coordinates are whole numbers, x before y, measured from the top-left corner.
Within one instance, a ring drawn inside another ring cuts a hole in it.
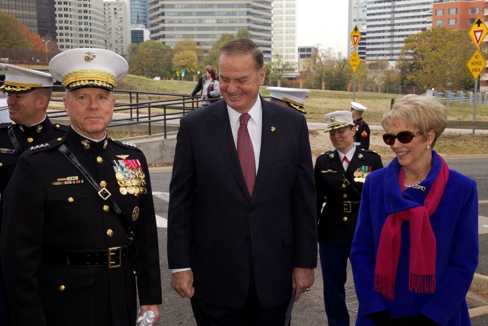
[[[356,325],[471,325],[478,264],[476,183],[432,150],[447,126],[432,96],[407,95],[382,119],[392,162],[363,188],[351,265]]]

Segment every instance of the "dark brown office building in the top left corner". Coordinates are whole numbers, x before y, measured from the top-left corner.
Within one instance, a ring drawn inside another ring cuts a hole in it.
[[[56,38],[55,0],[0,0],[0,10],[41,37]]]

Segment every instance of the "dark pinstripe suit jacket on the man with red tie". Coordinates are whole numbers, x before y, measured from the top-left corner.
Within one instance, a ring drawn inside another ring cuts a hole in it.
[[[169,268],[191,267],[194,298],[243,306],[251,269],[261,304],[289,299],[294,267],[317,264],[315,188],[299,112],[264,101],[249,197],[224,101],[180,120],[168,210]]]

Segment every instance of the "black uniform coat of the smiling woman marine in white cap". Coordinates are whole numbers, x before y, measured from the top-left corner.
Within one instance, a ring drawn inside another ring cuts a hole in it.
[[[358,146],[356,146],[356,152],[354,152],[347,171],[344,171],[337,150],[325,152],[317,157],[314,174],[317,189],[319,240],[333,244],[351,245],[356,231],[359,210],[344,213],[344,210],[337,207],[331,208],[330,206],[334,203],[331,201],[329,201],[331,204],[328,207],[325,204],[323,210],[322,206],[324,202],[327,202],[327,199],[336,202],[360,201],[364,181],[359,181],[358,177],[354,176],[354,172],[358,169],[372,172],[381,168],[383,168],[383,163],[379,154],[363,150]],[[349,185],[346,187],[343,187],[344,181],[341,173],[349,181]]]

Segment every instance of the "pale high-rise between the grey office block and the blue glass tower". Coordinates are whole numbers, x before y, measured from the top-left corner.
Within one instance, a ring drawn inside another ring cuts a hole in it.
[[[124,55],[131,43],[129,4],[126,0],[104,0],[105,48]]]

